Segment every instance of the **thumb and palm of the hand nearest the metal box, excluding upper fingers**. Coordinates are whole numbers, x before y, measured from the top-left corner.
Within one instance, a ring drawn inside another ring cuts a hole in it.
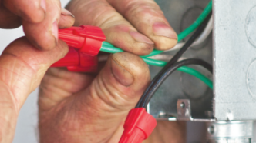
[[[49,68],[40,85],[40,142],[118,142],[123,121],[150,81],[147,64],[111,55],[99,75]],[[158,122],[149,142],[184,142],[184,122]]]

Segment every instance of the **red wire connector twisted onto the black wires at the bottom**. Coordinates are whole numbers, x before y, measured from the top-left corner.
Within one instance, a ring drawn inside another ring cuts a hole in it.
[[[123,125],[124,131],[119,143],[141,143],[157,126],[157,121],[145,108],[133,108]]]

